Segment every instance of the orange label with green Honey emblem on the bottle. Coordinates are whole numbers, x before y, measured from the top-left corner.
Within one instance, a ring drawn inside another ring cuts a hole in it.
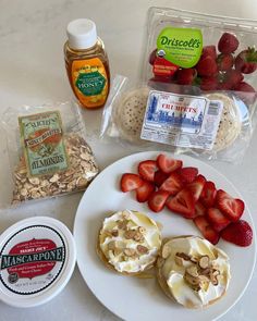
[[[107,99],[109,84],[101,60],[93,58],[73,61],[72,85],[82,104],[87,108],[102,106]]]

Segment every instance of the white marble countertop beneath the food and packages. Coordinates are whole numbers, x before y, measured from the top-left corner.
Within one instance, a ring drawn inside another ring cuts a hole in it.
[[[89,17],[105,40],[112,75],[136,78],[143,28],[150,5],[257,18],[255,0],[0,0],[0,113],[8,107],[66,101],[72,92],[66,79],[62,46],[66,24]],[[101,169],[117,159],[136,152],[117,145],[101,145],[98,129],[102,110],[85,111],[88,141]],[[257,225],[257,132],[241,165],[213,162],[243,195]],[[111,152],[110,152],[111,149]],[[4,188],[1,182],[0,193]],[[32,215],[49,215],[73,230],[82,194],[40,201],[13,210],[0,210],[0,232]],[[220,320],[257,320],[257,272],[243,298]],[[0,320],[120,320],[90,293],[77,268],[64,291],[50,303],[17,309],[0,303]]]

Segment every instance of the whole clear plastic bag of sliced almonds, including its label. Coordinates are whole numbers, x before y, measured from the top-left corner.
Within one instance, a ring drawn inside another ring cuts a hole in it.
[[[5,203],[84,190],[98,174],[75,102],[9,108],[1,123],[13,177]]]

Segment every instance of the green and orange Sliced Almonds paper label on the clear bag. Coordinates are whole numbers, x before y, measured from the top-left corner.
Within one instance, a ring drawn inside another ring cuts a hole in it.
[[[19,118],[22,146],[30,176],[56,173],[68,169],[58,111]]]

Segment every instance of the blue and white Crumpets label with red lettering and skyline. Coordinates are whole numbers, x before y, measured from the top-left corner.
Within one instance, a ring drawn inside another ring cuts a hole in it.
[[[142,139],[210,150],[216,140],[223,102],[206,97],[151,90]]]

